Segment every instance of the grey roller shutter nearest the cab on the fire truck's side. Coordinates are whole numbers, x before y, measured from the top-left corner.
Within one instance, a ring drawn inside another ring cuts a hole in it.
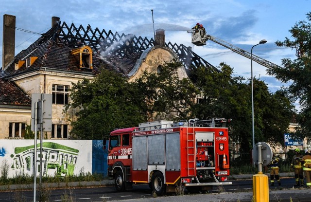
[[[147,170],[147,136],[133,136],[133,169]]]

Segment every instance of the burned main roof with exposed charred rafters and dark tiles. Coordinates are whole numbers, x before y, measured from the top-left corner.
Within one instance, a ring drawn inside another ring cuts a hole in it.
[[[85,45],[93,51],[92,69],[79,68],[75,58],[70,54],[73,49]],[[86,29],[82,25],[76,27],[73,23],[68,26],[66,22],[59,21],[27,49],[18,53],[14,60],[4,67],[4,70],[0,70],[0,78],[12,78],[37,71],[40,68],[70,71],[70,73],[96,74],[103,67],[127,75],[134,68],[140,55],[154,45],[153,38],[136,37],[131,34],[120,35],[118,32],[113,34],[111,31],[100,31],[99,28],[92,29],[90,25],[87,25]],[[165,46],[178,55],[187,69],[204,65],[218,71],[183,44],[177,45],[169,42]],[[15,64],[18,61],[31,56],[37,58],[30,67],[26,68],[26,63],[24,63],[16,70]]]

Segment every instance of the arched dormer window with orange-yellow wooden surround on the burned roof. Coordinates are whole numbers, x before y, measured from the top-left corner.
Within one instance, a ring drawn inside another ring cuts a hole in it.
[[[78,60],[80,68],[93,69],[92,49],[89,46],[73,49],[71,54]]]

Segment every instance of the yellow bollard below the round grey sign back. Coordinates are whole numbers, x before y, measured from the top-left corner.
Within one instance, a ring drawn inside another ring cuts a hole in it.
[[[262,172],[253,175],[253,199],[255,202],[269,202],[269,177]]]

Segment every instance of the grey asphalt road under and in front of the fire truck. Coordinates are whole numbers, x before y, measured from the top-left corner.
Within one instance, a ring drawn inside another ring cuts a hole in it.
[[[201,198],[201,200],[209,202],[223,200],[225,202],[240,202],[247,201],[249,202],[252,199],[252,186],[253,181],[251,178],[243,179],[243,180],[231,180],[232,185],[225,186],[214,186],[212,190],[208,191],[208,193],[194,193],[188,194],[185,193],[184,196],[176,196],[175,193],[166,194],[166,196],[153,196],[151,189],[147,184],[135,185],[133,190],[125,191],[125,192],[116,192],[115,187],[113,185],[108,186],[90,186],[84,188],[56,188],[51,190],[50,194],[50,202],[63,201],[64,199],[71,198],[73,201],[78,202],[105,202],[105,201],[152,201],[156,202],[160,200],[161,202],[169,200],[182,202],[182,201],[196,201]],[[300,191],[306,189],[293,189],[294,178],[282,178],[281,186],[269,187],[271,200],[276,198],[276,201],[279,201],[282,197],[285,201],[290,201],[291,197],[295,197],[295,199],[299,198],[299,201],[303,201],[301,199],[301,195],[305,196],[305,194],[299,194]],[[286,191],[285,191],[286,190]],[[281,192],[281,193],[278,193]],[[310,192],[310,190],[307,190]],[[276,193],[274,193],[276,192]],[[288,193],[287,195],[285,194]],[[38,192],[37,192],[38,193]],[[34,201],[34,195],[32,190],[18,190],[18,191],[2,191],[0,192],[0,202],[16,202],[20,201],[21,198],[27,199],[27,202]],[[298,194],[298,196],[295,196]],[[190,197],[192,197],[190,199]],[[306,197],[308,201],[311,201],[310,197]],[[293,202],[295,202],[293,200]]]

